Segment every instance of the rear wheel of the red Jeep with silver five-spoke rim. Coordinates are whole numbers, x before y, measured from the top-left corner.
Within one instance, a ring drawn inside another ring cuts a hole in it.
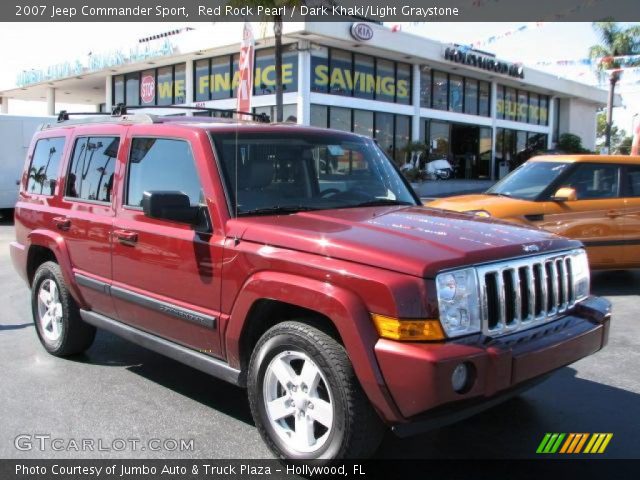
[[[45,262],[33,277],[31,310],[40,343],[47,352],[66,357],[84,352],[96,329],[80,318],[80,310],[69,293],[55,262]]]

